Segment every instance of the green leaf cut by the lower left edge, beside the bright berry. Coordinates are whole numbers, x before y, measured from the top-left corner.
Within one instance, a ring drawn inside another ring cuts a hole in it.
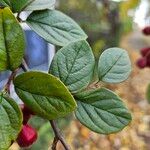
[[[7,150],[22,127],[22,113],[13,99],[0,95],[0,150]]]

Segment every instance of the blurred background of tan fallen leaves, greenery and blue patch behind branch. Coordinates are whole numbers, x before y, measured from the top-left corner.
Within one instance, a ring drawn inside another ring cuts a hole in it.
[[[142,34],[142,29],[150,26],[150,0],[57,0],[56,7],[85,30],[96,60],[106,48],[121,47],[128,51],[133,67],[126,82],[105,85],[122,97],[132,113],[131,124],[117,134],[99,135],[70,115],[58,120],[67,142],[73,150],[150,150],[150,104],[145,97],[150,68],[136,66],[140,49],[150,47],[150,36]],[[47,71],[55,48],[28,27],[23,27],[28,45],[25,59],[30,69]],[[0,74],[0,88],[8,75],[9,72]],[[39,139],[26,150],[50,149],[53,132],[49,122],[33,117],[29,123],[38,130]],[[19,149],[17,144],[10,148]],[[61,144],[58,150],[63,150]]]

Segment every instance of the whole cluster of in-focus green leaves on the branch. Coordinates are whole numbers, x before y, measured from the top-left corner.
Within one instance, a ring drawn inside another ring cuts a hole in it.
[[[86,90],[95,67],[93,52],[78,24],[50,9],[55,0],[0,0],[0,4],[0,71],[17,71],[24,56],[24,33],[13,13],[33,11],[25,22],[47,42],[62,47],[49,73],[28,71],[13,79],[17,95],[35,115],[54,120],[74,112],[83,125],[101,134],[118,132],[129,124],[131,114],[114,92],[103,87]],[[131,72],[127,52],[107,49],[97,70],[98,82],[126,80]],[[0,116],[0,149],[6,150],[17,139],[23,122],[18,104],[6,89],[0,94]]]

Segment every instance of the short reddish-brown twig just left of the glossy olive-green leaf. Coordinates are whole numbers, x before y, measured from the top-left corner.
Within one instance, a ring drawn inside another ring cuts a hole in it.
[[[19,68],[17,68],[16,70],[14,70],[11,75],[9,76],[8,78],[8,81],[5,85],[5,91],[10,94],[10,85],[11,85],[11,82],[13,81],[14,77],[16,76],[17,72],[18,72]]]

